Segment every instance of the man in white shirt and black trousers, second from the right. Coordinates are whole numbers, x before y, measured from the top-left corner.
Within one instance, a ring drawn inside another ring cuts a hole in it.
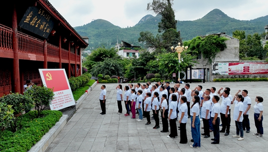
[[[248,96],[248,90],[242,90],[242,96],[244,97],[244,111],[243,111],[243,130],[246,130],[246,133],[250,132],[250,123],[249,123],[249,109],[251,106],[251,99]]]

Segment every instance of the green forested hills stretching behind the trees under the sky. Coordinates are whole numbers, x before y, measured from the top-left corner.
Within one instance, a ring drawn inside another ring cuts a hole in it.
[[[179,17],[176,17],[179,18]],[[143,46],[138,42],[139,33],[142,31],[151,31],[157,34],[158,22],[161,21],[161,16],[147,15],[133,27],[120,28],[109,21],[96,19],[86,25],[75,27],[78,34],[89,37],[89,47],[98,48],[105,46],[107,48],[114,47],[121,40],[134,45]],[[246,34],[263,33],[264,26],[268,25],[268,15],[252,20],[238,20],[228,17],[219,9],[214,9],[206,16],[193,21],[178,21],[177,31],[181,31],[183,40],[190,40],[198,35],[206,35],[212,33],[225,32],[232,35],[235,30],[243,30]],[[91,48],[91,49],[90,49]]]

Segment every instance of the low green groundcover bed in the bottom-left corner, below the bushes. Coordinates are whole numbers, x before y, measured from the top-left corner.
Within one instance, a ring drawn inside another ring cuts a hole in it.
[[[0,138],[0,152],[27,152],[35,145],[62,116],[60,111],[44,110],[43,117],[37,117],[37,111],[23,115],[17,132],[5,131]]]

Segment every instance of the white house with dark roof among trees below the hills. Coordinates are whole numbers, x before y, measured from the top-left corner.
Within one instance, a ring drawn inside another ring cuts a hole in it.
[[[123,57],[129,58],[136,56],[139,57],[140,46],[134,46],[133,44],[121,41],[121,44],[116,44],[115,49],[118,51],[117,54]]]

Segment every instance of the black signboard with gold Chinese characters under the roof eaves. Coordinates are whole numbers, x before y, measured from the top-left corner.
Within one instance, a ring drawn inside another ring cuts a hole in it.
[[[51,16],[43,9],[29,7],[19,22],[19,26],[32,33],[47,38],[53,29]]]

